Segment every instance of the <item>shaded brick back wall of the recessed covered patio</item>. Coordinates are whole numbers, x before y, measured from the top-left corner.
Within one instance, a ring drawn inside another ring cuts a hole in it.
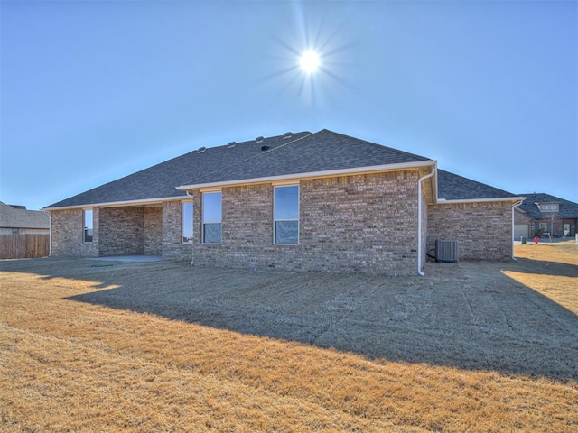
[[[144,254],[144,208],[105,207],[100,209],[98,255]]]

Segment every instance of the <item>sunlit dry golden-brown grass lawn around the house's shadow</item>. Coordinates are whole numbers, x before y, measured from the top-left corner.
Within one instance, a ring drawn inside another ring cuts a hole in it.
[[[578,266],[578,247],[516,253],[526,262],[502,272],[578,314],[575,268],[557,264]],[[578,429],[573,379],[369,359],[71,299],[137,266],[0,263],[2,431]]]

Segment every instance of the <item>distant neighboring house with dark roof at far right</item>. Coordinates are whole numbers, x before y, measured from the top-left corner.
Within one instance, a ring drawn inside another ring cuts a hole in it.
[[[552,237],[573,237],[578,227],[578,204],[544,193],[523,194],[526,200],[516,208],[514,238],[549,233]]]

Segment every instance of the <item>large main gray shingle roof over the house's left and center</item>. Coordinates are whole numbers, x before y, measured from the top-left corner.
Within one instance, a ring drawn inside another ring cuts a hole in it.
[[[269,149],[263,151],[263,146]],[[251,140],[233,147],[224,145],[185,153],[49,208],[186,197],[176,187],[413,161],[428,160],[328,130],[315,134],[305,131],[290,138],[278,135],[260,143]]]

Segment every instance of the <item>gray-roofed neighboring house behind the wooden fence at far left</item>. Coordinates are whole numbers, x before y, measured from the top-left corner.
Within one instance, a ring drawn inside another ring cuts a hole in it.
[[[48,235],[51,219],[42,210],[26,210],[0,201],[0,235]]]

